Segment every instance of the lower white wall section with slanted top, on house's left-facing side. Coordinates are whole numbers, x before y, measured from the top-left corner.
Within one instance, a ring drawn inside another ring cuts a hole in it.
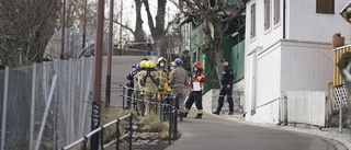
[[[278,123],[281,96],[281,50],[279,43],[257,51],[257,99],[252,122]]]

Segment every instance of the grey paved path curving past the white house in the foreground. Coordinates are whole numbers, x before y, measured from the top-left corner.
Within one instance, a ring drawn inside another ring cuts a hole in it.
[[[242,115],[213,115],[195,119],[196,108],[179,122],[180,139],[166,150],[348,150],[351,135],[329,128],[252,124]]]

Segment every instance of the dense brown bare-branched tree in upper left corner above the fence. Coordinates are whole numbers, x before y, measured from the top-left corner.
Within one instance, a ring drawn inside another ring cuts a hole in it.
[[[20,67],[41,62],[45,47],[53,36],[59,1],[0,1],[1,64]]]

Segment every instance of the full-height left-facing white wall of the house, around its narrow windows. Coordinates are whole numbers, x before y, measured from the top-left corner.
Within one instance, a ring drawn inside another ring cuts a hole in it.
[[[280,97],[281,55],[278,47],[272,47],[272,45],[283,38],[283,11],[280,14],[281,22],[273,25],[273,18],[271,18],[271,27],[264,31],[263,2],[263,0],[251,0],[246,9],[246,37],[248,38],[246,38],[245,59],[245,111],[248,122],[276,123],[279,117],[278,101],[270,101]],[[256,4],[256,37],[250,38],[251,5],[253,3]],[[282,5],[281,2],[281,9]],[[271,15],[273,15],[273,8],[271,8]]]

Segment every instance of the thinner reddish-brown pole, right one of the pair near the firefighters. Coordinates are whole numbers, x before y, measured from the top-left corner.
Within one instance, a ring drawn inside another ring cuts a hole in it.
[[[109,47],[107,47],[107,72],[106,72],[106,103],[110,106],[111,97],[111,59],[112,59],[112,41],[113,41],[113,4],[114,0],[110,0],[110,20],[109,20]]]

